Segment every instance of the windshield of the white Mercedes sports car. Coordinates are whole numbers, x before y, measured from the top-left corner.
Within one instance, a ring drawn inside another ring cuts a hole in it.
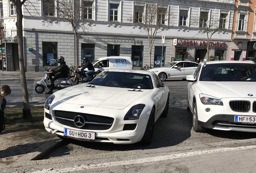
[[[90,84],[131,89],[153,89],[149,74],[103,71]]]

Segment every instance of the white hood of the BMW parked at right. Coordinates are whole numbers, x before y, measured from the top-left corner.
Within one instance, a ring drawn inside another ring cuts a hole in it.
[[[219,99],[234,97],[256,97],[256,82],[200,82],[197,86],[203,94]]]

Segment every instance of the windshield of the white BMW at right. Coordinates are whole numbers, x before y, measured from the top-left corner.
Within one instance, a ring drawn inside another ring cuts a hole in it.
[[[256,82],[256,64],[219,63],[202,67],[200,81],[250,81]]]

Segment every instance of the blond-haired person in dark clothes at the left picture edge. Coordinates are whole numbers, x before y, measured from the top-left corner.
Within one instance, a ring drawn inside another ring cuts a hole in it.
[[[7,101],[4,97],[6,97],[7,95],[9,95],[11,93],[11,89],[8,85],[1,85],[0,86],[0,105],[1,105],[1,114],[4,114],[4,109],[7,105]],[[7,117],[4,114],[4,123],[7,123]],[[0,129],[1,130],[1,129]]]

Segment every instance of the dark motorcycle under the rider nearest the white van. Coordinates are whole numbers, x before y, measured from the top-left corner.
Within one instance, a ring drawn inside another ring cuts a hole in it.
[[[85,75],[85,71],[80,72],[79,69],[74,70],[74,73],[70,76],[70,79],[73,81],[73,83],[79,84],[81,83],[86,83],[86,82],[91,82],[97,75],[95,72],[89,74],[89,77]]]

